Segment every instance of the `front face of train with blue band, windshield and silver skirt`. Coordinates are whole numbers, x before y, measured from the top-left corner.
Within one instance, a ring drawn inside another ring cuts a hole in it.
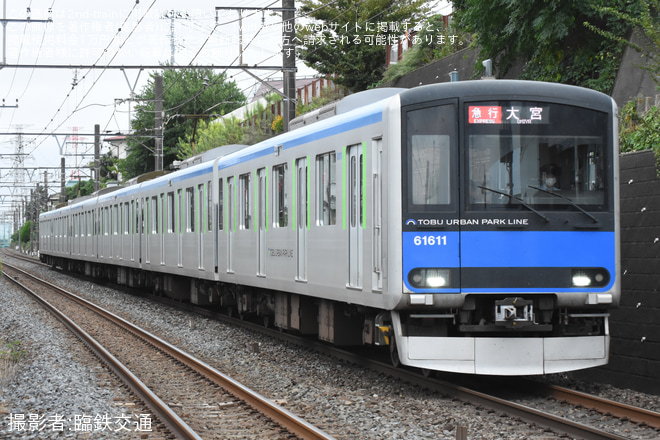
[[[494,375],[607,363],[620,297],[612,99],[467,81],[400,104],[400,361]]]

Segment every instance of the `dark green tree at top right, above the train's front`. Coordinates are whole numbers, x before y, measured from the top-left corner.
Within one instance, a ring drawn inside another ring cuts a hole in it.
[[[618,38],[630,25],[600,8],[610,6],[634,15],[627,0],[453,0],[458,26],[474,34],[481,50],[477,66],[491,58],[504,75],[523,63],[521,78],[580,85],[609,93],[623,44],[594,32],[585,22]]]

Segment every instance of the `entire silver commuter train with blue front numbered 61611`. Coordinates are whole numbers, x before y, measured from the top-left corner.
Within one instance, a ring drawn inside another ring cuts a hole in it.
[[[601,93],[526,81],[352,95],[42,214],[41,259],[424,370],[603,365],[616,113]]]

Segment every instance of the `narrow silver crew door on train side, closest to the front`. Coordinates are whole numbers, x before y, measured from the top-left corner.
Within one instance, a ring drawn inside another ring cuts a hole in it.
[[[374,139],[371,143],[372,161],[373,161],[373,226],[372,226],[372,274],[371,285],[372,290],[383,290],[383,250],[382,250],[382,219],[383,219],[383,205],[382,205],[382,173],[383,173],[383,140]]]

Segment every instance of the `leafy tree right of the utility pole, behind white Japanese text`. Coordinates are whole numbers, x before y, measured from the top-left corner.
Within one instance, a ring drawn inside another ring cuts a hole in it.
[[[353,92],[382,80],[385,44],[428,12],[422,0],[302,0],[299,11],[314,21],[296,29],[298,57]]]

